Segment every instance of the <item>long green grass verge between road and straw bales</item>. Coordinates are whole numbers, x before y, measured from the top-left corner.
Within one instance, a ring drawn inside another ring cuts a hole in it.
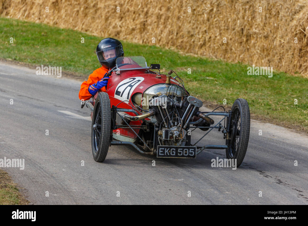
[[[77,78],[87,77],[100,66],[94,51],[101,39],[74,30],[0,18],[0,58],[35,66],[62,66],[63,71]],[[274,72],[270,78],[247,75],[249,65],[183,55],[157,46],[122,43],[125,56],[142,55],[148,65],[159,63],[163,72],[175,70],[190,94],[208,106],[223,105],[225,99],[223,106],[230,107],[235,99],[245,98],[252,118],[308,133],[307,78],[283,72]]]

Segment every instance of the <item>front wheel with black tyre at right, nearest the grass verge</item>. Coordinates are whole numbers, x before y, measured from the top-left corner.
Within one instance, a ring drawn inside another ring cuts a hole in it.
[[[232,110],[232,118],[228,120],[230,123],[230,140],[226,140],[226,155],[228,159],[236,159],[237,167],[244,160],[250,131],[250,111],[249,105],[245,99],[238,98],[234,101]]]

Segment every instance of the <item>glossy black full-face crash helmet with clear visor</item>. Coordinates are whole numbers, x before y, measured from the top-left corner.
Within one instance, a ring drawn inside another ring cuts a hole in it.
[[[113,68],[116,58],[124,56],[122,43],[114,38],[104,38],[96,47],[96,55],[102,66]]]

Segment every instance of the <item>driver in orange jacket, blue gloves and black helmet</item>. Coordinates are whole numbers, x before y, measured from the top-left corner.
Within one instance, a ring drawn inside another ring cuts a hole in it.
[[[79,99],[88,100],[99,90],[106,91],[109,77],[104,77],[115,66],[115,60],[124,56],[123,46],[119,40],[104,38],[96,47],[96,55],[102,67],[93,71],[87,81],[80,86]]]

